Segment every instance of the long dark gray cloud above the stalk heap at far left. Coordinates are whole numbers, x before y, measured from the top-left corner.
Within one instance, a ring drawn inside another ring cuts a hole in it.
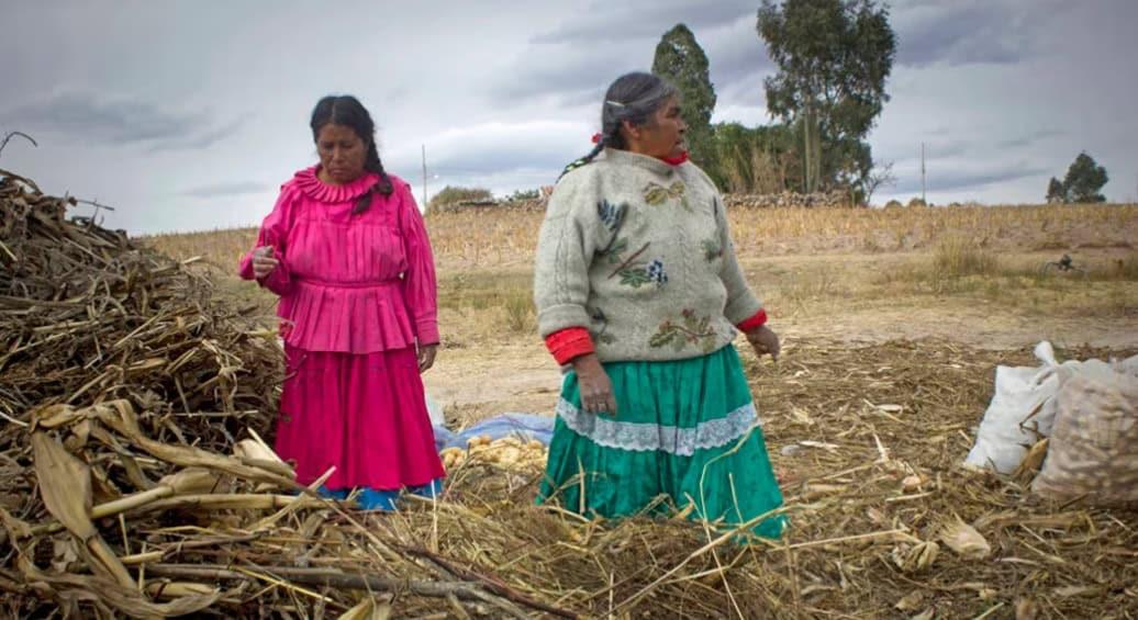
[[[17,105],[0,114],[7,126],[53,132],[107,144],[147,144],[151,150],[208,147],[237,131],[234,121],[217,126],[204,111],[171,111],[141,99],[107,98],[63,91]]]

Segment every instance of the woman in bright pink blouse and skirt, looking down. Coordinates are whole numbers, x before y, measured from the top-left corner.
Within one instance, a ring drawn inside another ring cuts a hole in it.
[[[394,510],[432,496],[443,464],[420,373],[438,347],[435,263],[411,189],[387,174],[376,126],[354,97],[312,113],[320,164],[281,187],[240,274],[280,296],[287,374],[277,452],[310,485],[361,489]]]

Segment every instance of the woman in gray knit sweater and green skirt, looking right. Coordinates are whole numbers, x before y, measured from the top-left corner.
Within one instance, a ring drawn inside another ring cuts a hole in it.
[[[568,367],[538,502],[610,518],[691,506],[776,537],[784,520],[764,515],[782,494],[732,341],[743,331],[777,357],[778,338],[718,191],[687,160],[678,92],[624,75],[601,121],[596,148],[558,181],[537,247],[539,330]]]

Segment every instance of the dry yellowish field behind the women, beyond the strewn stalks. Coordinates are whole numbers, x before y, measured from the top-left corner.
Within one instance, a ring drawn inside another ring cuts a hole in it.
[[[1138,205],[737,209],[732,228],[772,325],[790,342],[943,338],[1024,350],[1040,339],[1138,347]],[[531,256],[542,215],[428,216],[444,350],[427,375],[448,415],[550,411],[559,372],[536,334]],[[232,278],[251,229],[148,239],[200,256],[218,288],[271,312]],[[1041,273],[1069,254],[1082,274]],[[745,353],[744,353],[745,354]]]

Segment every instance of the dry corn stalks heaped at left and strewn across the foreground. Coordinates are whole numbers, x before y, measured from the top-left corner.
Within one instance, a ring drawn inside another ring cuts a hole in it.
[[[996,363],[790,345],[749,374],[783,540],[531,503],[475,454],[365,514],[265,448],[279,353],[183,266],[0,179],[0,613],[101,617],[1138,617],[1138,518],[958,464]],[[1078,350],[1071,356],[1104,355]]]

